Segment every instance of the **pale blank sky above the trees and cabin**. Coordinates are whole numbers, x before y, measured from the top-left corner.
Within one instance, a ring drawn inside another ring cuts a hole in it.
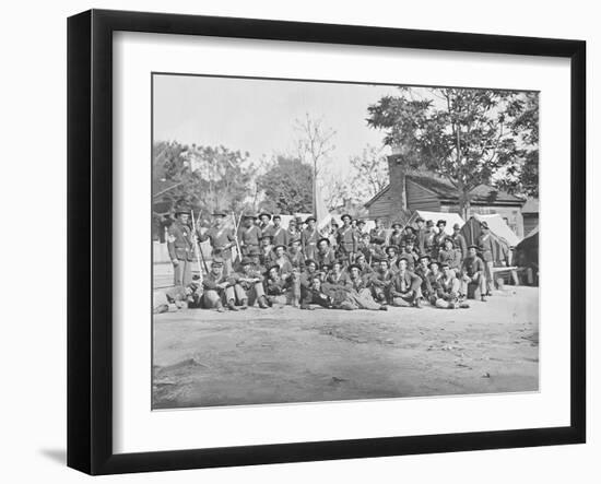
[[[384,131],[367,127],[367,106],[386,85],[154,75],[154,141],[224,145],[251,160],[295,153],[295,120],[321,118],[335,131],[331,173],[343,174],[349,158],[366,145],[382,146]]]

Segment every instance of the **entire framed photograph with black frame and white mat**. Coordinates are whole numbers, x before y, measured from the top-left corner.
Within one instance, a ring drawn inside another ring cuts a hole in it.
[[[70,17],[68,464],[584,442],[585,56]]]

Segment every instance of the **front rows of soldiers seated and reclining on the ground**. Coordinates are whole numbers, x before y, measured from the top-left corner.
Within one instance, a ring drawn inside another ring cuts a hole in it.
[[[255,304],[266,309],[273,304],[310,309],[313,304],[330,309],[386,310],[389,305],[422,307],[423,300],[455,309],[469,307],[466,298],[470,285],[476,286],[482,300],[486,300],[485,268],[476,246],[470,246],[461,267],[432,260],[428,255],[415,259],[408,253],[388,252],[390,257],[374,259],[372,264],[358,252],[355,261],[346,264],[334,257],[295,260],[294,255],[303,252],[291,257],[280,245],[268,264],[261,263],[260,250],[250,250],[232,273],[226,273],[224,260],[216,258],[201,284],[192,281],[186,288],[176,286],[155,295],[155,311],[168,310],[169,303],[178,302],[217,311],[237,311]]]

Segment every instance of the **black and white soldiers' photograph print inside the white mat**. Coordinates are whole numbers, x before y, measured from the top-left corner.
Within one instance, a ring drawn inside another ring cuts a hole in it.
[[[153,410],[539,390],[539,92],[151,81]]]

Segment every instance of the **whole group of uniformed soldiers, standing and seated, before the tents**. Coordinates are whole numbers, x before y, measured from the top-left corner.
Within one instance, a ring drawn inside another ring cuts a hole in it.
[[[197,227],[187,208],[176,212],[167,246],[174,265],[174,287],[155,294],[155,311],[170,306],[237,311],[249,306],[290,304],[303,309],[387,310],[389,306],[467,308],[468,294],[481,300],[492,294],[493,237],[482,222],[475,245],[468,245],[456,224],[417,219],[415,226],[381,221],[369,232],[365,222],[342,215],[325,231],[315,216],[290,221],[263,212],[244,216],[237,231],[223,212],[210,227]],[[209,241],[212,260],[207,273],[192,278],[198,244]],[[233,261],[233,249],[240,257]],[[470,291],[470,287],[472,291]],[[474,291],[475,290],[475,291]]]

